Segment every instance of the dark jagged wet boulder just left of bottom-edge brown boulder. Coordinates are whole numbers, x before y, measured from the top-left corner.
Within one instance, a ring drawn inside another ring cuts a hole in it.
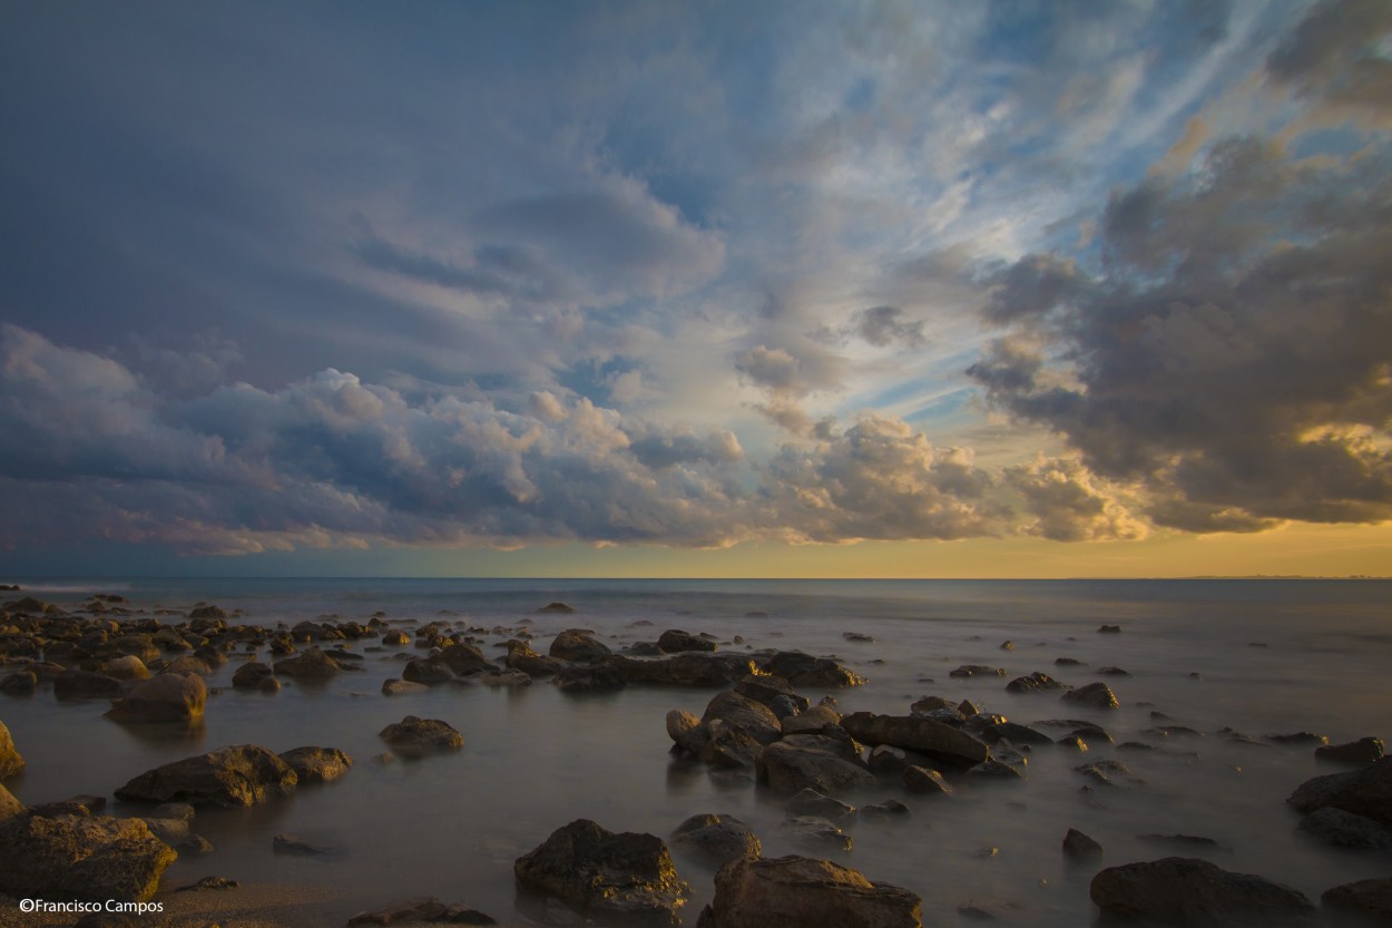
[[[522,886],[597,918],[677,922],[690,892],[660,837],[608,832],[583,818],[519,857],[512,872]]]

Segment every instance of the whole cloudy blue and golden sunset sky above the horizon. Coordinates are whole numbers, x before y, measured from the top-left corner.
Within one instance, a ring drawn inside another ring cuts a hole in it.
[[[1392,574],[1392,4],[0,3],[0,573]]]

